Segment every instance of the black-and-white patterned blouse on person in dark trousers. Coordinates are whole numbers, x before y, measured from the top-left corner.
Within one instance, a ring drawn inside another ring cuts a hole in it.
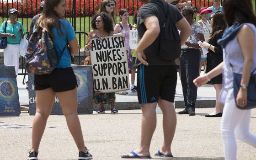
[[[203,34],[203,28],[201,27],[201,25],[197,22],[194,22],[194,24],[192,24],[191,26],[192,28],[192,33],[190,34],[190,36],[187,38],[187,42],[196,44],[198,42],[198,38],[197,38],[197,34],[201,33]],[[185,48],[193,48],[193,47],[188,47],[186,44],[184,44],[183,46],[181,46],[182,49]],[[197,48],[198,49],[198,48]]]

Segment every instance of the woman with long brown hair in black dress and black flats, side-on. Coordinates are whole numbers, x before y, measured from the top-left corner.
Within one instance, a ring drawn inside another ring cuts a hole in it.
[[[225,28],[227,27],[224,20],[224,15],[222,11],[214,12],[210,16],[210,25],[213,27],[213,32],[208,38],[208,43],[203,42],[201,47],[208,48],[207,53],[207,63],[206,63],[206,73],[218,66],[223,61],[223,51],[220,44],[217,41],[222,37]],[[216,106],[215,111],[205,115],[205,117],[222,117],[223,104],[219,102],[219,93],[222,88],[222,75],[218,75],[211,79],[216,90]]]

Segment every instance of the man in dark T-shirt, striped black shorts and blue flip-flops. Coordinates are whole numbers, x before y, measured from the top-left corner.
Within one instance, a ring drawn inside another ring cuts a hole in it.
[[[164,142],[155,156],[172,157],[171,142],[176,128],[176,112],[173,105],[177,82],[175,61],[160,59],[160,26],[164,25],[165,12],[162,7],[168,6],[171,21],[180,32],[181,45],[191,33],[191,28],[181,12],[163,0],[140,0],[146,5],[139,9],[137,22],[138,40],[135,51],[138,66],[138,99],[142,110],[141,141],[139,148],[122,155],[122,158],[151,158],[150,142],[156,127],[156,105],[163,112]],[[177,30],[176,30],[177,32]],[[171,51],[170,51],[171,52]]]

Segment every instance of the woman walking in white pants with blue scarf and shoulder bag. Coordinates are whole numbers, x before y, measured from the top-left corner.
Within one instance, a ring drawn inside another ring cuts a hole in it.
[[[194,84],[201,86],[223,73],[223,88],[219,101],[224,103],[221,134],[225,160],[236,160],[235,138],[256,148],[256,134],[249,131],[251,110],[241,110],[247,104],[247,86],[251,72],[256,68],[256,16],[251,0],[223,0],[224,17],[228,23],[222,39],[224,61],[208,74],[197,77]],[[240,90],[234,98],[234,73],[242,74]]]

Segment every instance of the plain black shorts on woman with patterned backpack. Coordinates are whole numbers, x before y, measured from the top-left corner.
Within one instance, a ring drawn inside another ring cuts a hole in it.
[[[77,87],[77,81],[73,69],[55,68],[48,75],[35,75],[35,90],[52,88],[54,92],[69,91]]]

